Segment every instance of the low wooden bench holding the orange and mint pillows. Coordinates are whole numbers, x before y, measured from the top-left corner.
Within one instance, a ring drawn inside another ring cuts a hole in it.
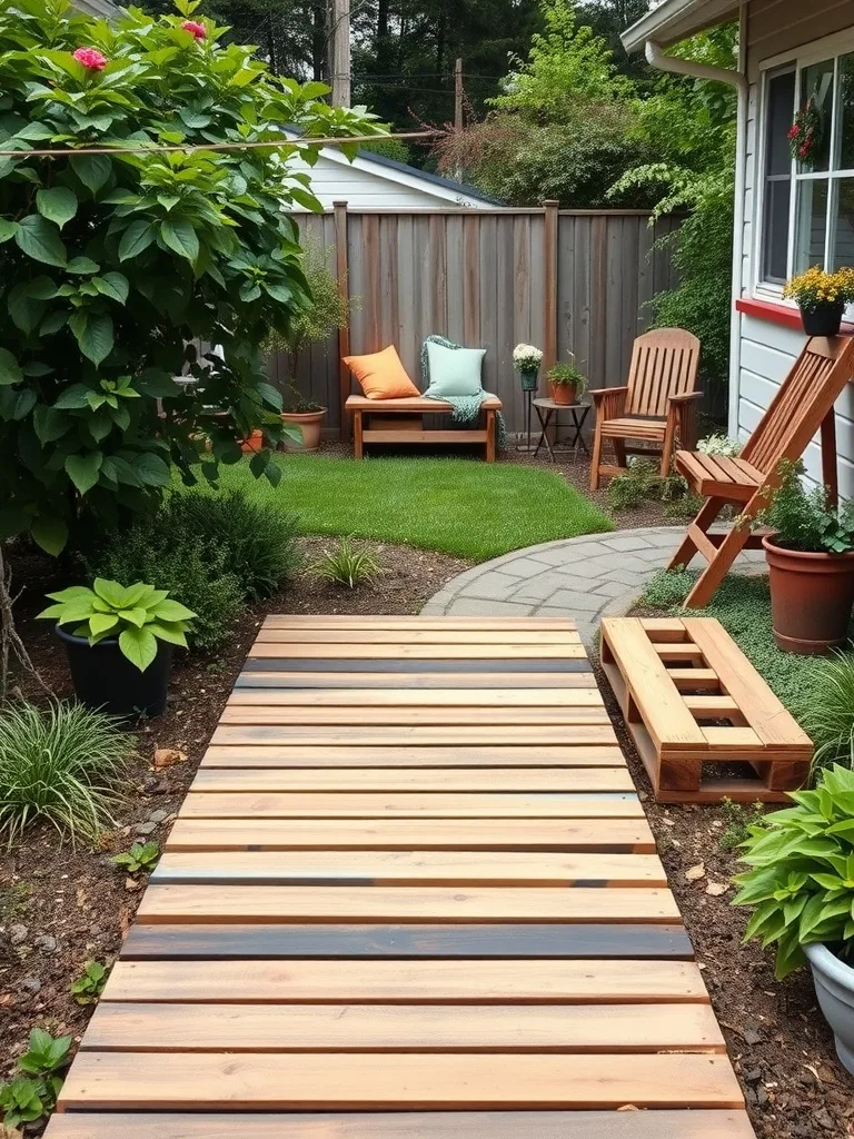
[[[481,443],[485,449],[486,461],[495,461],[495,412],[501,410],[501,400],[496,396],[490,396],[482,404],[484,426],[470,431],[425,427],[425,416],[443,415],[452,408],[450,403],[426,400],[422,395],[405,400],[369,400],[364,395],[351,395],[344,409],[353,416],[353,449],[356,459],[364,458],[366,443],[402,443],[413,446],[425,443]]]

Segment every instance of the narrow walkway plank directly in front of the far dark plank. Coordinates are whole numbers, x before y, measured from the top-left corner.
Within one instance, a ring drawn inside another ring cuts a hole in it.
[[[255,661],[255,665],[263,662]],[[281,663],[281,662],[279,662]],[[582,662],[574,662],[583,666]],[[509,665],[515,667],[515,665]],[[699,670],[697,670],[699,671]],[[237,678],[235,693],[248,688],[273,688],[293,689],[301,688],[310,691],[323,691],[327,689],[353,689],[366,690],[372,688],[387,689],[393,682],[397,689],[418,691],[421,688],[474,688],[478,691],[488,689],[509,689],[514,696],[520,695],[522,689],[548,688],[552,691],[560,691],[564,688],[592,688],[596,679],[592,672],[411,672],[402,671],[389,680],[388,672],[287,672],[284,667],[273,672],[244,671]]]

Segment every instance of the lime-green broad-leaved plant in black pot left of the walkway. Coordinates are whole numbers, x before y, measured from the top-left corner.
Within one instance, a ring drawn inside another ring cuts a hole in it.
[[[92,585],[48,593],[55,604],[39,614],[56,622],[77,699],[110,715],[159,715],[172,646],[187,647],[184,633],[196,614],[165,589],[142,582],[124,587],[96,577]]]

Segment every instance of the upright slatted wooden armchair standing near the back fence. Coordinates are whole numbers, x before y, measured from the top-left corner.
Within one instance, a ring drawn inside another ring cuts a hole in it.
[[[590,489],[599,489],[601,475],[625,469],[626,453],[660,453],[662,477],[671,469],[676,434],[684,448],[695,443],[695,401],[700,342],[683,328],[656,328],[634,342],[629,383],[591,392],[596,408],[596,435],[590,462]],[[614,444],[618,466],[603,464],[602,443]],[[643,441],[644,449],[626,446],[626,440]],[[652,444],[651,446],[649,444]]]

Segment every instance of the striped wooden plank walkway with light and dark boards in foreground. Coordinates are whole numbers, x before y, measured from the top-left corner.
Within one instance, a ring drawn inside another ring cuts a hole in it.
[[[264,622],[47,1131],[238,1134],[753,1137],[570,622]]]

